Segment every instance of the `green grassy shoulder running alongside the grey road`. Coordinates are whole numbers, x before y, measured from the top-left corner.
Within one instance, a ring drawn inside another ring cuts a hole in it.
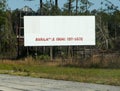
[[[120,69],[63,67],[55,62],[1,61],[0,73],[120,86]]]

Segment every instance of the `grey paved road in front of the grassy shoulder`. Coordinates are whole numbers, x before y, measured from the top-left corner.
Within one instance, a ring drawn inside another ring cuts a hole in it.
[[[120,86],[0,74],[0,91],[120,91]]]

